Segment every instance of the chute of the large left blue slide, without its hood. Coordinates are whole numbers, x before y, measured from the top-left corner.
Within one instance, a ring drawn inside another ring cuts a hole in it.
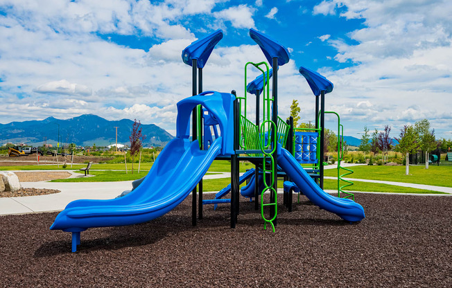
[[[51,229],[76,232],[138,224],[160,217],[191,193],[220,154],[220,148],[221,137],[209,150],[200,150],[198,141],[175,138],[165,146],[133,192],[110,200],[72,201],[58,214]]]

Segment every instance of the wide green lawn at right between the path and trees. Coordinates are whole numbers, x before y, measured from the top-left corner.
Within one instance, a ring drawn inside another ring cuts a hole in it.
[[[371,179],[381,181],[395,181],[403,183],[425,184],[433,186],[452,187],[452,167],[429,166],[410,166],[410,175],[405,175],[405,166],[368,166],[358,165],[350,168],[353,174],[346,178]],[[342,174],[345,173],[343,170]],[[325,176],[337,177],[336,169],[325,170]]]

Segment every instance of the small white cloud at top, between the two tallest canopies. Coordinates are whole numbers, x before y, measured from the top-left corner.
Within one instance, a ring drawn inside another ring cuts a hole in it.
[[[230,21],[234,28],[255,28],[254,20],[254,8],[251,8],[245,4],[239,6],[229,7],[225,10],[214,12],[214,17],[223,21]]]

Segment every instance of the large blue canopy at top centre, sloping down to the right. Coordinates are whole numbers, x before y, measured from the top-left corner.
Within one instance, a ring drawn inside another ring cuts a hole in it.
[[[279,42],[253,28],[250,28],[250,37],[261,47],[263,55],[266,55],[268,63],[272,64],[272,59],[274,57],[278,58],[278,66],[283,66],[289,62],[290,53],[287,48],[279,44]]]

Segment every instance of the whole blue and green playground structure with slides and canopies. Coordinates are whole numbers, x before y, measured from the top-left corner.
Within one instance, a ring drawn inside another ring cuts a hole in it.
[[[314,174],[318,174],[315,176],[318,183],[294,158],[293,148],[297,141],[294,143],[293,140],[293,120],[288,120],[288,123],[282,120],[277,109],[278,67],[290,60],[290,54],[284,46],[259,31],[250,29],[250,37],[259,45],[272,69],[267,62],[247,62],[243,96],[237,96],[236,91],[232,93],[202,91],[202,69],[222,37],[223,32],[216,30],[182,51],[182,60],[192,67],[193,96],[177,103],[176,138],[164,147],[139,186],[116,199],[72,201],[56,217],[51,229],[72,233],[73,252],[80,244],[80,232],[87,228],[147,222],[168,213],[190,194],[193,226],[196,225],[198,217],[202,218],[203,204],[230,203],[230,224],[231,228],[235,228],[239,211],[239,183],[248,177],[252,179],[242,189],[242,195],[254,198],[254,207],[257,209],[260,195],[264,228],[270,225],[272,231],[275,231],[277,225],[279,177],[290,179],[293,181],[290,182],[293,183],[292,189],[303,192],[313,204],[336,213],[348,222],[358,222],[365,217],[363,207],[353,200],[334,197],[322,190],[324,165],[322,157],[318,158],[320,161],[317,162],[314,157],[311,159],[311,154],[308,157],[310,161],[315,162],[312,170]],[[250,67],[255,67],[261,74],[253,82],[247,83],[247,69]],[[300,144],[310,148],[316,144],[315,155],[318,156],[323,155],[323,145],[319,143],[324,141],[324,114],[327,113],[324,112],[324,95],[332,91],[333,85],[313,71],[308,71],[306,75],[304,76],[316,96],[316,125],[315,129],[311,130],[315,130],[317,138],[320,136],[320,141]],[[318,77],[322,79],[319,80]],[[254,121],[248,118],[250,113],[247,107],[250,101],[247,93],[256,96]],[[320,152],[317,152],[318,150]],[[300,153],[303,151],[300,150]],[[202,177],[214,160],[231,162],[231,185],[219,193],[221,197],[230,193],[231,197],[230,199],[216,197],[203,201]],[[250,161],[255,165],[254,170],[239,177],[240,161]],[[265,193],[270,194],[268,203],[264,203],[267,199],[264,197]],[[286,197],[284,202],[286,204]]]

